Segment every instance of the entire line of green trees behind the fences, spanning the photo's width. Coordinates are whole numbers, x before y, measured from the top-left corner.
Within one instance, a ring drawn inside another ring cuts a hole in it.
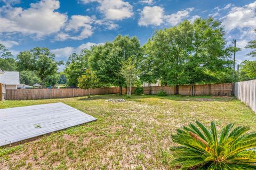
[[[255,56],[256,42],[251,41],[246,47],[254,49],[249,55]],[[242,62],[239,77],[232,77],[232,56],[238,50],[227,45],[221,23],[209,18],[193,23],[185,20],[178,26],[155,31],[143,46],[137,37],[118,35],[113,42],[71,54],[65,63],[55,61],[48,48],[36,47],[14,58],[1,45],[0,68],[20,71],[21,83],[41,83],[44,87],[77,87],[78,79],[84,75],[94,76],[97,84],[93,87],[124,87],[127,75],[122,72],[128,61],[132,67],[126,68],[133,68],[136,85],[157,81],[162,85],[228,83],[256,78],[256,61]],[[63,72],[58,72],[60,64],[66,65]],[[126,72],[130,74],[129,70]]]

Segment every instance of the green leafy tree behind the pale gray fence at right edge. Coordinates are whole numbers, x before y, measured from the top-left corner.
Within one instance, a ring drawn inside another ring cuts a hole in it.
[[[244,60],[240,65],[238,80],[256,79],[256,61]]]

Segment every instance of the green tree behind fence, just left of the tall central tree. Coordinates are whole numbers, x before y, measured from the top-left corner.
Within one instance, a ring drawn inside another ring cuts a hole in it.
[[[87,60],[90,54],[91,51],[84,49],[79,55],[73,53],[69,56],[68,61],[66,62],[66,68],[64,69],[64,73],[67,76],[68,86],[77,86],[77,79],[84,74],[86,69],[88,69]]]

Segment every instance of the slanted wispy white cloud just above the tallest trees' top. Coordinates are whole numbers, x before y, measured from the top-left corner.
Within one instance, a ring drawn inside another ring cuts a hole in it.
[[[189,13],[194,10],[194,7],[188,8],[186,10],[178,11],[171,15],[165,15],[165,19],[171,26],[175,26],[180,23],[183,19],[189,17]]]

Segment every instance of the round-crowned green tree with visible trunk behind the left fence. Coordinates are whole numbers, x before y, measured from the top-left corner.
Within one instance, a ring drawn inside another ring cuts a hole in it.
[[[18,69],[34,71],[42,80],[43,88],[45,88],[45,79],[48,76],[57,74],[58,64],[54,60],[55,54],[51,53],[48,48],[36,47],[30,51],[20,52],[17,56]]]

